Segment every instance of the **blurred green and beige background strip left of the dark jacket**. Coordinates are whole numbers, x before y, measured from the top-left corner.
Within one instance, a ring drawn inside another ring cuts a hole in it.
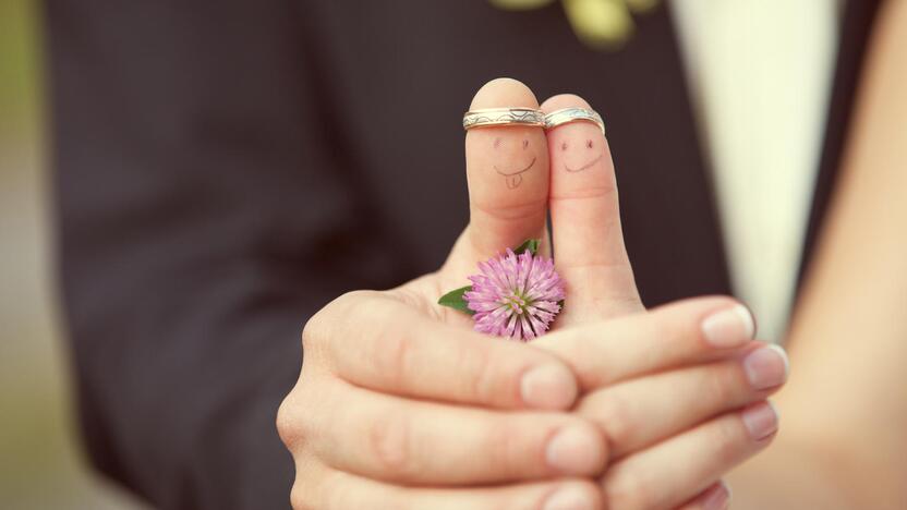
[[[143,508],[87,467],[53,279],[40,2],[0,0],[0,508]]]

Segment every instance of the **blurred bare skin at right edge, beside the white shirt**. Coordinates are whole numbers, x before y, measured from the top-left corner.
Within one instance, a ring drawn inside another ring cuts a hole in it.
[[[794,315],[785,433],[734,473],[741,509],[907,508],[905,40],[907,2],[886,2]]]

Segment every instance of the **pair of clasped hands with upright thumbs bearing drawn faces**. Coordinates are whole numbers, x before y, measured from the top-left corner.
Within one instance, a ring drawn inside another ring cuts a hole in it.
[[[521,83],[495,80],[470,109],[501,107],[539,106]],[[569,107],[589,108],[563,95],[541,109]],[[293,507],[725,507],[722,475],[777,430],[765,398],[786,379],[783,351],[753,341],[729,298],[645,311],[596,125],[475,129],[465,150],[470,224],[444,267],[346,294],[306,324],[277,420],[295,460]],[[567,288],[551,332],[493,338],[436,304],[477,262],[533,238],[542,253],[554,243]]]

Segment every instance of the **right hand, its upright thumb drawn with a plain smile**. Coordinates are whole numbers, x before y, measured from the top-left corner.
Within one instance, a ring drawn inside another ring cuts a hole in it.
[[[570,107],[590,108],[572,95],[542,105],[546,112]],[[752,317],[728,299],[642,312],[607,139],[596,125],[573,122],[547,141],[556,265],[569,289],[557,327],[571,335],[534,344],[570,363],[584,393],[578,413],[609,439],[608,508],[673,508],[692,498],[689,508],[726,497],[718,477],[777,429],[764,399],[786,380],[784,351],[749,342]],[[624,330],[606,333],[614,328]]]

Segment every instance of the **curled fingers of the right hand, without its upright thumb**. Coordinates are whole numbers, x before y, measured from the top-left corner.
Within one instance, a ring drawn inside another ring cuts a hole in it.
[[[581,387],[594,388],[576,412],[608,438],[606,508],[726,496],[719,477],[774,438],[764,399],[786,380],[786,356],[750,341],[740,311],[724,298],[687,300],[533,342],[572,360]]]

